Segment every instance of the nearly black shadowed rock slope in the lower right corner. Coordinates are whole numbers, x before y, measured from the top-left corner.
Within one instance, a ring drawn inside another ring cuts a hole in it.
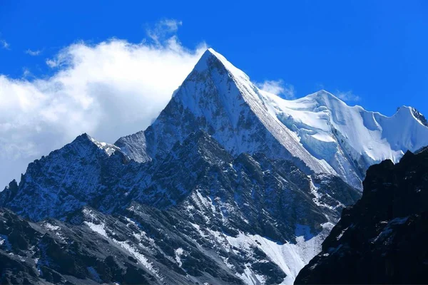
[[[342,212],[295,284],[427,284],[428,149],[367,171],[364,192]]]

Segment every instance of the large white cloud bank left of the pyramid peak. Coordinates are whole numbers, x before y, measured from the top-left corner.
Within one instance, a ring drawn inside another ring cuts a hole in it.
[[[0,75],[0,185],[81,133],[114,142],[145,129],[205,48],[188,50],[175,36],[155,44],[82,42],[46,61],[56,68],[50,78]]]

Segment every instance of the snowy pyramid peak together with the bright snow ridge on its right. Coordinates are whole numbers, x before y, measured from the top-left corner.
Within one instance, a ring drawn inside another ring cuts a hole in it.
[[[365,170],[428,145],[424,117],[399,108],[387,118],[350,107],[322,90],[297,100],[259,90],[248,76],[208,49],[145,131],[115,145],[138,162],[163,157],[175,142],[203,129],[233,155],[261,152],[307,172],[339,175],[361,189]]]

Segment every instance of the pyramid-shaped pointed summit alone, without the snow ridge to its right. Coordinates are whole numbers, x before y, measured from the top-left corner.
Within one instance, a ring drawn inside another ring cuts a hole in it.
[[[155,122],[115,145],[138,162],[163,157],[175,142],[205,130],[233,155],[261,152],[293,160],[302,169],[335,173],[310,155],[298,138],[269,113],[250,78],[209,48]]]

